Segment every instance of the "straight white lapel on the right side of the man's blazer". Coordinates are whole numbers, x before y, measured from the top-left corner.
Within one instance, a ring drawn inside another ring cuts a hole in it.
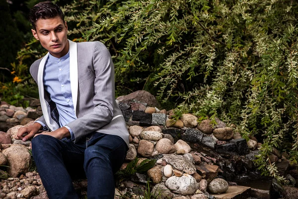
[[[76,43],[69,40],[70,44],[70,81],[71,90],[74,103],[74,113],[76,115],[76,103],[77,103],[77,89],[78,89],[78,75],[77,75],[77,46]]]

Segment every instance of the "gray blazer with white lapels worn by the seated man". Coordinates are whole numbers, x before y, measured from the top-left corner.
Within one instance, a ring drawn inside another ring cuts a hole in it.
[[[91,133],[101,132],[120,136],[129,146],[129,133],[115,101],[114,65],[108,49],[101,42],[70,44],[70,77],[74,110],[77,119],[67,124],[74,132],[75,141]],[[43,71],[49,53],[36,60],[30,73],[38,84],[43,116],[39,121],[49,130],[59,126],[55,102],[43,86]]]

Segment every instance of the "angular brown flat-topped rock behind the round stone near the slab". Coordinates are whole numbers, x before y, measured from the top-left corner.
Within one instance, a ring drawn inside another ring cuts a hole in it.
[[[208,183],[215,179],[219,172],[219,167],[217,165],[200,164],[196,165],[196,169],[198,174],[206,179]]]

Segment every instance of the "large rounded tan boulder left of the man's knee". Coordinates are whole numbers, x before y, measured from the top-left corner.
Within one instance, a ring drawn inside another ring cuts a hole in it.
[[[17,177],[21,173],[26,173],[31,164],[31,156],[28,149],[23,145],[12,144],[4,149],[2,153],[8,161],[7,172],[11,177]]]

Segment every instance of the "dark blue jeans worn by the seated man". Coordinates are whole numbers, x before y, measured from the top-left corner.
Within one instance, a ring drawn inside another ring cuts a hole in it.
[[[72,179],[87,177],[88,199],[114,199],[114,174],[127,145],[116,135],[94,132],[74,144],[49,135],[32,139],[32,155],[50,199],[78,199]]]

